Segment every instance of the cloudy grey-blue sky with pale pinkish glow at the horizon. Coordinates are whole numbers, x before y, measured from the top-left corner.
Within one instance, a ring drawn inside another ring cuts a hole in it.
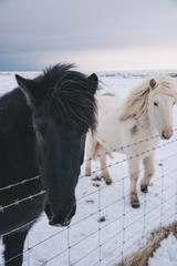
[[[0,71],[177,69],[177,0],[0,0]]]

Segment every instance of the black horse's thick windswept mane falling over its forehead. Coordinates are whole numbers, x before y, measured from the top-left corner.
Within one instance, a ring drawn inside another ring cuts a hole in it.
[[[73,64],[56,64],[43,71],[43,75],[35,80],[50,90],[51,102],[56,113],[64,115],[66,121],[77,129],[90,127],[94,131],[96,84],[73,68]]]

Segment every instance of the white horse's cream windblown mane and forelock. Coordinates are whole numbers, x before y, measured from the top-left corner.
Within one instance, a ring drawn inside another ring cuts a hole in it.
[[[147,78],[140,85],[134,88],[122,106],[118,120],[138,119],[148,115],[148,94],[167,94],[177,102],[177,81],[167,75],[155,75]]]

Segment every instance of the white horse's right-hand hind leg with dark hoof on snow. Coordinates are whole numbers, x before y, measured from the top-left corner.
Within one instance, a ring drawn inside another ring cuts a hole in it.
[[[102,168],[102,176],[105,180],[106,184],[110,185],[113,181],[112,181],[108,170],[107,170],[107,164],[106,164],[107,154],[105,154],[105,153],[106,153],[106,150],[103,146],[101,146],[100,147],[100,154],[101,154],[100,162],[101,162],[101,168]]]

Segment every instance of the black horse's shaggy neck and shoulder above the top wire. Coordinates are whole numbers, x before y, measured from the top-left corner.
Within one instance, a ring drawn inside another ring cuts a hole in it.
[[[31,110],[21,93],[17,89],[0,98],[0,184],[39,173]]]

